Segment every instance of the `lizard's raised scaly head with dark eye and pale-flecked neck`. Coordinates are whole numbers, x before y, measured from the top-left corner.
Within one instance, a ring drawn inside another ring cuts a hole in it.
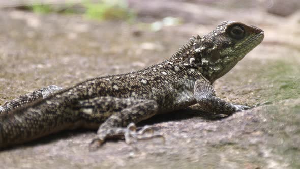
[[[195,38],[192,49],[197,65],[211,82],[226,74],[264,38],[263,30],[241,22],[225,21]]]

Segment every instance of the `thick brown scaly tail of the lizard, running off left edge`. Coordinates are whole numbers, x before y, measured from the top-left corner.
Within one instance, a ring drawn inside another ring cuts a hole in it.
[[[57,102],[52,107],[40,103],[37,106],[1,114],[0,148],[28,142],[73,127],[75,116],[70,116],[66,107],[62,104],[57,105]]]

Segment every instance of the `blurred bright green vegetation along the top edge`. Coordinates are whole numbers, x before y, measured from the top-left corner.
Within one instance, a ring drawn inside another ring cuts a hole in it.
[[[84,8],[84,12],[73,10],[75,5],[80,5]],[[126,0],[102,0],[99,2],[84,1],[80,4],[67,3],[63,9],[55,8],[53,4],[36,3],[31,6],[26,6],[25,9],[35,13],[63,13],[63,14],[80,14],[88,19],[96,20],[125,20],[133,22],[136,14],[128,7]]]

